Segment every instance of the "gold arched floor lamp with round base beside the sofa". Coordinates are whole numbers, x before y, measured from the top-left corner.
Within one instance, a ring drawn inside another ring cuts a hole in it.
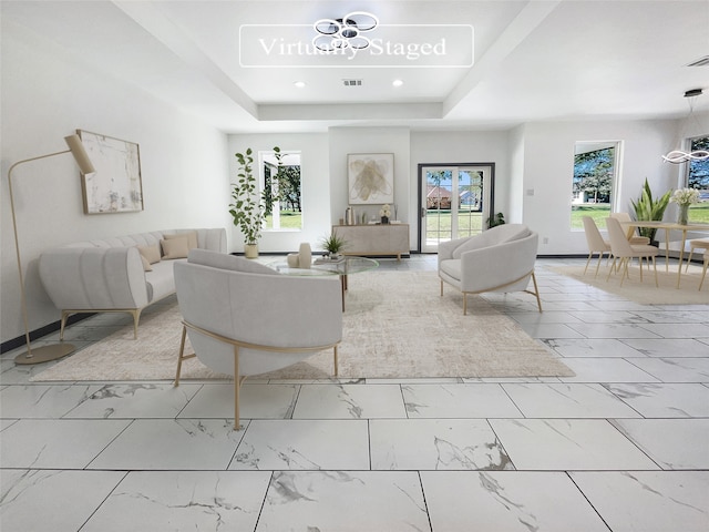
[[[27,352],[20,354],[14,358],[14,364],[40,364],[49,360],[56,360],[58,358],[65,357],[70,352],[73,352],[76,348],[71,344],[54,344],[50,346],[38,347],[31,349],[30,346],[30,324],[27,317],[27,295],[24,293],[24,277],[22,275],[22,260],[20,258],[20,241],[18,239],[18,223],[14,216],[14,198],[12,197],[12,171],[20,164],[29,163],[31,161],[38,161],[40,158],[53,157],[54,155],[61,155],[63,153],[71,153],[76,161],[76,164],[84,174],[91,174],[95,172],[89,154],[84,150],[84,145],[81,143],[79,135],[65,136],[66,145],[69,150],[63,152],[50,153],[47,155],[40,155],[39,157],[25,158],[24,161],[18,161],[10,170],[8,170],[8,186],[10,187],[10,211],[12,212],[12,229],[14,232],[14,250],[18,257],[18,273],[20,274],[20,299],[22,306],[22,320],[24,321],[24,341],[27,342]]]

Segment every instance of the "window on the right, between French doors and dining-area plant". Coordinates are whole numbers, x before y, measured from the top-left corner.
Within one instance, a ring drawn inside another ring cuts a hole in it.
[[[590,216],[605,227],[612,211],[617,178],[618,143],[577,142],[572,177],[572,229],[583,229],[582,216]]]

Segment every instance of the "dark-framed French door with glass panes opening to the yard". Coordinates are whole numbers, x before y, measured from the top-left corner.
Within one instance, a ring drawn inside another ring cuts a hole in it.
[[[441,242],[484,231],[493,178],[494,163],[419,165],[421,253],[436,253]]]

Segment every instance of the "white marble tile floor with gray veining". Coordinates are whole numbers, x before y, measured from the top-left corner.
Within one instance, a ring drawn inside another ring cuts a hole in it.
[[[0,529],[707,532],[709,291],[643,306],[547,269],[583,263],[538,260],[543,314],[484,296],[575,377],[247,380],[240,431],[227,381],[34,383],[7,352]]]

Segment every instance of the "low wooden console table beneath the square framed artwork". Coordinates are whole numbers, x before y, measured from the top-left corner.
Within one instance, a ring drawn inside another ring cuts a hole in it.
[[[395,255],[411,253],[409,224],[333,225],[332,233],[345,238],[345,255]]]

